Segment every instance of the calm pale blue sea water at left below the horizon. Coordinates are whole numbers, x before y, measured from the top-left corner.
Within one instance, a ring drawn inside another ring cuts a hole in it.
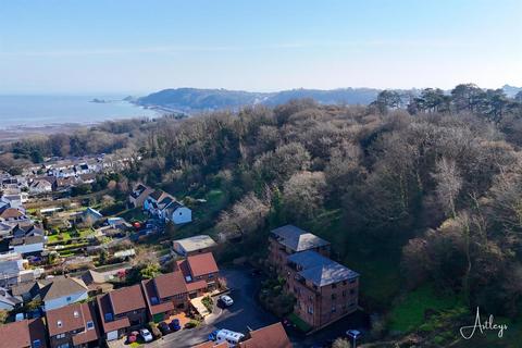
[[[94,98],[114,101],[90,102]],[[0,128],[40,127],[65,123],[88,124],[159,115],[153,110],[121,101],[122,98],[121,96],[0,96]]]

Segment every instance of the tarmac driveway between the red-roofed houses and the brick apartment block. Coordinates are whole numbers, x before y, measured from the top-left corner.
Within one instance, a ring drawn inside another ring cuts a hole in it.
[[[182,330],[172,333],[148,345],[148,347],[188,348],[204,340],[210,333],[219,328],[227,328],[246,334],[277,322],[277,318],[262,309],[256,301],[260,278],[250,275],[248,269],[228,269],[221,271],[231,288],[229,296],[234,304],[226,309],[214,306],[214,311],[207,316],[200,327]],[[216,303],[214,299],[214,303]]]

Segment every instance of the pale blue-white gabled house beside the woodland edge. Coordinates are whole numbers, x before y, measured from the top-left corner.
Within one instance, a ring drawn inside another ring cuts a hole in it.
[[[192,211],[162,190],[150,194],[144,202],[144,209],[160,220],[185,224],[192,221]]]

